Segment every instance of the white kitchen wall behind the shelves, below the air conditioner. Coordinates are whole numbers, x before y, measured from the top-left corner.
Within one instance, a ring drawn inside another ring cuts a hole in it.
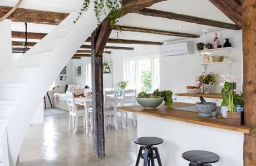
[[[219,74],[216,84],[211,92],[220,93],[225,81],[237,82],[237,91],[242,91],[242,30],[224,30],[218,32],[218,39],[221,45],[224,44],[224,38],[230,38],[232,50],[232,61],[230,74],[228,73],[227,64],[208,65],[207,72],[213,71]],[[207,34],[207,40],[213,44],[214,33]],[[180,41],[179,41],[180,42]],[[195,44],[205,43],[205,35],[194,40]],[[195,48],[196,49],[196,48]],[[217,53],[216,53],[217,54]],[[220,53],[227,54],[226,53]],[[196,76],[204,71],[203,56],[198,51],[193,55],[168,56],[160,58],[160,77],[161,89],[169,89],[176,92],[186,92],[187,85],[195,85]]]

